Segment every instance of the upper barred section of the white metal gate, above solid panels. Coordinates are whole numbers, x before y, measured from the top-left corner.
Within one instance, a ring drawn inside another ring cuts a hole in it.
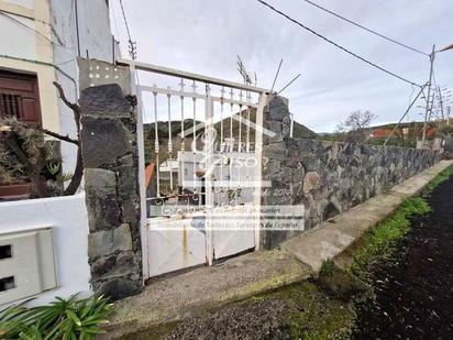
[[[216,206],[232,199],[256,204],[263,108],[268,90],[134,61],[121,59],[118,64],[140,74],[136,95],[139,109],[148,123],[147,161],[155,164],[146,195],[148,208]],[[150,75],[176,80],[177,88],[158,87]],[[180,131],[176,133],[173,124],[178,122]],[[152,211],[148,209],[148,217],[153,217]]]

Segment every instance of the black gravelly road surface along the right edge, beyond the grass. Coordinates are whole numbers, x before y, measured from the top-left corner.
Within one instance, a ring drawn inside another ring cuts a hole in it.
[[[357,310],[356,339],[453,339],[453,177],[411,221],[395,265],[374,274],[376,300]]]

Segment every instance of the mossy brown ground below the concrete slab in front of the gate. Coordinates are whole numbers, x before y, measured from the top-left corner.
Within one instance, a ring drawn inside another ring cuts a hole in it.
[[[346,331],[350,319],[350,305],[325,294],[317,282],[303,281],[124,339],[305,339],[307,333],[327,339]]]

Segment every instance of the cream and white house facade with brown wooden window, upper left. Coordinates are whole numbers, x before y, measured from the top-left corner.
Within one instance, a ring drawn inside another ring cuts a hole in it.
[[[15,116],[75,138],[73,112],[53,81],[76,102],[77,57],[112,62],[119,54],[110,30],[109,2],[0,0],[0,41],[1,117]],[[76,150],[74,144],[60,143],[63,173],[74,172]],[[3,185],[3,195],[8,191],[11,188]]]

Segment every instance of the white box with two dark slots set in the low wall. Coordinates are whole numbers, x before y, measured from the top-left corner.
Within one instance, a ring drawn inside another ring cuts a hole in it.
[[[52,229],[0,234],[0,305],[55,286]]]

